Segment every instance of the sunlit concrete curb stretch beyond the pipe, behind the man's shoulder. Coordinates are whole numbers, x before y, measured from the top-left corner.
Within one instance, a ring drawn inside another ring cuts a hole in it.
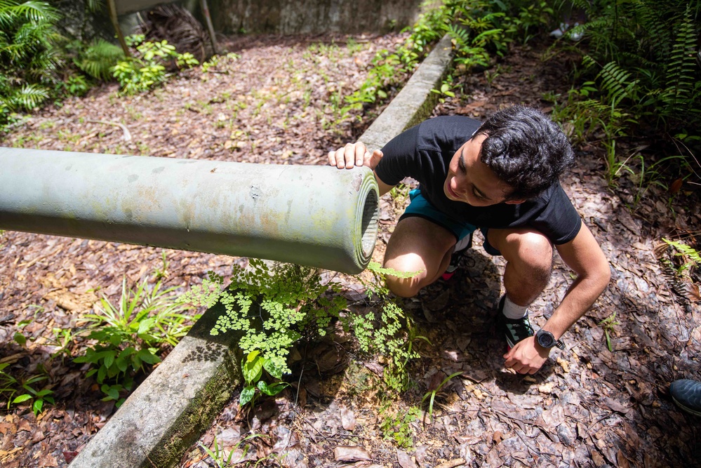
[[[438,95],[431,90],[441,88],[441,81],[446,76],[451,60],[453,44],[446,34],[359,140],[372,151],[385,146],[407,128],[427,119],[438,100]]]

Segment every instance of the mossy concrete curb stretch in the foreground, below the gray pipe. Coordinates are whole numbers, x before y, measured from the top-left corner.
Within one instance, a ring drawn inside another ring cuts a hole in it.
[[[209,334],[208,309],[70,464],[72,468],[174,467],[240,392],[239,335]]]

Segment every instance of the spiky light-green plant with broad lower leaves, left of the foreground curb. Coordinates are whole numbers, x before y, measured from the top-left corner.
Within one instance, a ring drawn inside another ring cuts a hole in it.
[[[88,347],[74,361],[92,365],[87,377],[95,375],[105,401],[121,405],[120,396],[131,390],[136,373],[160,362],[161,347],[177,345],[189,330],[187,323],[197,318],[182,313],[189,307],[169,296],[174,290],[161,290],[160,282],[149,290],[146,281],[128,289],[125,278],[119,304],[103,296],[98,313],[86,314],[85,319],[93,323],[88,340],[97,340],[98,345]]]

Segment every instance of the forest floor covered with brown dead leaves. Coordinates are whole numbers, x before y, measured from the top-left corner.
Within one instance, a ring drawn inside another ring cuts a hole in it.
[[[210,72],[197,67],[136,97],[100,86],[37,112],[0,145],[323,164],[329,150],[368,125],[367,119],[337,123],[333,95],[356,88],[375,53],[396,48],[402,37],[232,40],[229,51],[240,58],[222,58]],[[546,47],[514,47],[498,73],[461,76],[462,92],[434,115],[483,119],[515,103],[549,110],[543,95],[566,94],[568,62],[544,62]],[[126,126],[132,140],[107,121]],[[669,283],[657,258],[667,255],[662,237],[699,234],[698,190],[685,186],[671,196],[651,187],[630,210],[635,193],[626,191],[625,180],[618,190],[608,187],[599,150],[585,143],[577,153],[562,185],[606,253],[613,278],[563,337],[566,349],[552,352],[542,370],[524,377],[504,368],[505,345],[493,333],[504,262],[487,255],[478,238],[465,269],[405,301],[430,341],[410,366],[408,392],[387,399],[378,376],[382,359],[360,354],[351,337],[335,333],[334,340],[309,344],[305,362],[313,366],[293,375],[299,385],[249,415],[233,399],[181,466],[218,466],[203,450],[215,443],[226,455],[234,450],[234,466],[701,466],[701,418],[682,413],[668,394],[672,380],[701,380],[701,308],[691,286],[685,293]],[[404,203],[389,195],[380,202],[377,260]],[[87,366],[71,359],[86,348],[82,317],[100,297],[116,302],[123,278],[130,287],[153,284],[157,272],[167,272],[164,286],[182,292],[208,270],[227,276],[234,262],[245,259],[0,234],[0,363],[9,363],[5,370],[13,375],[46,376],[37,387],[48,385],[55,397],[37,416],[26,405],[1,408],[0,464],[65,467],[114,414],[114,401],[101,401],[99,387],[85,378]],[[537,326],[571,280],[556,256],[552,281],[531,307]],[[348,297],[361,295],[353,278],[343,283]],[[60,330],[72,330],[65,346]],[[13,340],[15,333],[27,342]],[[437,392],[429,417],[422,396],[456,372]],[[242,442],[251,434],[260,435]]]

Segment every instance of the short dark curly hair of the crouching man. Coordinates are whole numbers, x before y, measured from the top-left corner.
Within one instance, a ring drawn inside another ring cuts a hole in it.
[[[516,105],[490,116],[479,159],[500,180],[514,187],[509,199],[530,199],[552,185],[574,161],[561,128],[537,109]]]

